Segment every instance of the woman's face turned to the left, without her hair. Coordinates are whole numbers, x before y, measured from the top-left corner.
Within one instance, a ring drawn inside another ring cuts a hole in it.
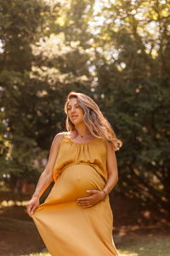
[[[71,122],[74,125],[79,125],[83,122],[84,112],[77,104],[77,98],[71,98],[67,105],[67,113]]]

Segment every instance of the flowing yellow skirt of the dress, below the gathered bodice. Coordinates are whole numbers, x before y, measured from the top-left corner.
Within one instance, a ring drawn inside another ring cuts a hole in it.
[[[47,199],[32,218],[52,256],[117,256],[112,239],[109,196],[93,207],[77,205],[88,189],[103,189],[105,181],[93,166],[65,166]]]

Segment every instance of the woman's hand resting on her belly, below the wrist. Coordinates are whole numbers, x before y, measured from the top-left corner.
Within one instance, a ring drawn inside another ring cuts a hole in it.
[[[87,197],[77,199],[77,204],[83,208],[93,207],[105,198],[105,193],[99,190],[87,190],[90,194]]]

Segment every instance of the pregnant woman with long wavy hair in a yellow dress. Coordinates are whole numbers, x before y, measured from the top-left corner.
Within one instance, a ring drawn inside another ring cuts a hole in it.
[[[54,137],[27,212],[52,256],[117,256],[109,193],[118,180],[115,151],[122,142],[89,96],[71,92],[65,113],[67,131]]]

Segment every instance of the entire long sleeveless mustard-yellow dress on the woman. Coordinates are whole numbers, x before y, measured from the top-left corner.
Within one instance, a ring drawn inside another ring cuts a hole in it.
[[[88,189],[107,181],[105,142],[74,143],[64,132],[54,165],[54,187],[32,218],[52,256],[117,256],[109,196],[93,207],[77,205]]]

